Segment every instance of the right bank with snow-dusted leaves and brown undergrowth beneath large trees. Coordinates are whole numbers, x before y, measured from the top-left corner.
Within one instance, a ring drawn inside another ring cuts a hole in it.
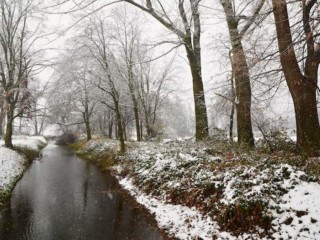
[[[319,239],[320,158],[193,139],[73,145],[177,239]]]

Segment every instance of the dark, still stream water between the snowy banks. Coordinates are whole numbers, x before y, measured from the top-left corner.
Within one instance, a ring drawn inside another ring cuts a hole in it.
[[[112,177],[50,144],[15,187],[11,206],[1,212],[0,239],[162,239],[116,188]]]

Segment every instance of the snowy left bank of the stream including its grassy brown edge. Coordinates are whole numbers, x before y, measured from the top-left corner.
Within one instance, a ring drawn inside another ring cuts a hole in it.
[[[14,150],[4,147],[4,141],[0,140],[0,210],[6,206],[24,170],[47,144],[45,138],[38,136],[14,136],[12,142]]]

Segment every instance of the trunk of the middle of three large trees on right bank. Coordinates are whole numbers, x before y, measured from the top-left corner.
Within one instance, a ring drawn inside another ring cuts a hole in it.
[[[237,104],[238,143],[247,147],[254,147],[251,122],[251,85],[249,67],[238,30],[238,20],[230,1],[222,1],[232,45],[232,70],[235,79]]]

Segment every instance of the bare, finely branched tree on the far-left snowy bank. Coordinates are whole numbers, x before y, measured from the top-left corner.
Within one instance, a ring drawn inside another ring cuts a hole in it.
[[[0,1],[0,74],[4,89],[6,111],[5,146],[13,148],[14,119],[25,111],[23,104],[30,99],[27,91],[32,64],[27,33],[27,22],[35,2]]]

